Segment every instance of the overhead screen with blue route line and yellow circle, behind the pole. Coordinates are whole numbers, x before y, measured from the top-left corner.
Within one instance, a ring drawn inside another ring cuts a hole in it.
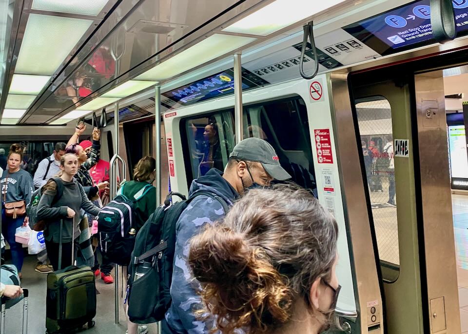
[[[268,84],[268,81],[246,69],[242,69],[242,90],[266,84]],[[189,105],[231,93],[234,93],[234,72],[232,69],[162,93],[162,95],[182,105]]]

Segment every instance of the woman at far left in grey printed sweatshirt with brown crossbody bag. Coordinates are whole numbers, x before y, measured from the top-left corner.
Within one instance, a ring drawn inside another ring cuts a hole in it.
[[[24,169],[20,168],[23,150],[20,144],[13,144],[8,153],[8,169],[3,170],[1,177],[1,233],[10,245],[13,264],[17,267],[21,278],[21,268],[23,266],[22,245],[15,241],[16,229],[21,225],[29,223],[28,216],[24,213],[18,215],[6,214],[5,204],[19,202],[16,207],[24,205],[24,209],[31,202],[33,194],[33,178]],[[22,204],[22,205],[21,205]]]

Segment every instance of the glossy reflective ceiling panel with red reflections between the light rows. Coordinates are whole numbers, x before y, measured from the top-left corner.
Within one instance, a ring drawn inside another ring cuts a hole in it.
[[[100,38],[101,43],[91,54],[79,53],[71,64],[73,70],[65,69],[56,79],[56,82],[60,80],[61,84],[49,87],[21,122],[30,123],[30,115],[45,114],[44,111],[48,109],[59,109],[61,112],[58,116],[77,109],[78,101],[86,104],[94,97],[94,92],[108,91],[126,81],[130,75],[129,71],[135,73],[138,69],[144,69],[144,66],[158,61],[158,56],[155,55],[170,44],[201,27],[190,38],[176,44],[177,48],[184,47],[186,43],[200,35],[203,36],[203,32],[211,31],[245,10],[242,6],[247,6],[246,3],[252,6],[260,0],[240,1],[240,8],[235,7],[234,10],[228,11],[231,6],[234,8],[237,2],[238,0],[146,0],[132,7],[128,1],[122,1],[90,40],[90,43],[96,43],[95,39]],[[129,12],[126,17],[118,14],[126,12]],[[229,17],[219,19],[218,23],[210,26],[214,17],[222,15]],[[109,31],[109,25],[114,25],[115,29],[111,34],[105,35],[105,32]],[[172,46],[164,55],[174,51],[175,46]]]

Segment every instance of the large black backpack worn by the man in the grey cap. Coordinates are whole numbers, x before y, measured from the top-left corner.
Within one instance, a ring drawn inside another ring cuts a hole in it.
[[[171,192],[164,205],[156,208],[137,234],[127,280],[128,316],[134,323],[147,324],[164,319],[171,306],[171,281],[176,249],[176,223],[182,211],[197,196],[205,195],[218,201],[226,214],[228,204],[218,195],[199,191],[186,200]],[[181,202],[171,203],[172,196]]]

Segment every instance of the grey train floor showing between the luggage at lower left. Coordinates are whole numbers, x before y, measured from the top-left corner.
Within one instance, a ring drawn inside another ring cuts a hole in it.
[[[10,261],[7,261],[10,262]],[[46,297],[46,274],[39,274],[34,269],[36,257],[28,256],[24,259],[22,268],[21,286],[29,289],[29,312],[28,312],[28,334],[45,333],[45,297]],[[112,271],[115,277],[115,271]],[[120,275],[119,275],[120,276]],[[120,279],[120,286],[124,279]],[[127,322],[123,308],[123,297],[120,300],[119,324],[115,323],[114,295],[115,285],[105,284],[100,277],[96,279],[97,314],[94,318],[95,327],[79,332],[83,334],[123,334],[127,330]],[[125,291],[120,289],[120,291]],[[6,334],[20,334],[22,322],[22,307],[20,301],[17,305],[6,311]],[[156,334],[156,324],[148,325],[148,334]]]

